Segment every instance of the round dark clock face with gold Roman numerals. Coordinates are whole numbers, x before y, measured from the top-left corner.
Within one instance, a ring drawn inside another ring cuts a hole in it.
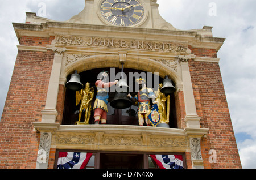
[[[144,8],[138,0],[104,0],[100,8],[101,15],[113,25],[133,26],[144,17]]]

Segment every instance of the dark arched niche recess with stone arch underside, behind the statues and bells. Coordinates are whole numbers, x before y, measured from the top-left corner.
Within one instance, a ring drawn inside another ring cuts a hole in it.
[[[173,85],[180,84],[180,78],[177,75],[177,72],[172,68],[160,63],[159,61],[147,59],[147,58],[138,58],[138,57],[127,57],[124,65],[124,72],[127,75],[127,83],[129,85],[129,73],[138,72],[141,74],[142,72],[148,74],[153,74],[152,77],[154,79],[155,76],[158,76],[159,83],[163,82],[164,76],[168,75],[170,79],[173,81]],[[81,82],[86,84],[89,82],[92,87],[95,86],[95,82],[97,80],[97,74],[102,70],[112,71],[114,69],[114,74],[118,74],[121,72],[121,64],[119,62],[119,55],[96,55],[86,58],[78,59],[75,62],[69,63],[63,71],[61,72],[61,78],[65,79],[68,82],[70,75],[73,74],[75,70],[77,70],[81,76]],[[155,72],[158,72],[157,75],[154,75]],[[110,72],[111,73],[111,72]],[[110,74],[111,76],[111,74]],[[110,80],[114,80],[115,78],[110,77]],[[135,87],[135,85],[133,86]],[[152,83],[152,88],[156,90],[158,88],[158,84]],[[96,87],[94,87],[95,91]],[[135,92],[132,92],[131,95],[135,96]],[[109,102],[114,98],[115,93],[109,93]],[[95,95],[96,96],[96,95]],[[95,97],[94,97],[95,98]],[[110,107],[109,107],[110,108]],[[124,111],[127,110],[110,110],[108,113],[108,123],[110,124],[119,124],[119,125],[138,125],[136,115],[136,108],[134,109],[135,116],[133,118],[122,116]],[[130,109],[130,110],[131,110]],[[138,109],[138,108],[137,108]],[[78,120],[78,112],[79,105],[75,105],[75,92],[66,90],[65,93],[65,105],[64,105],[64,113],[62,119],[62,125],[72,125]],[[113,114],[111,114],[113,113]],[[93,112],[92,117],[90,118],[90,123],[93,124]],[[83,116],[81,122],[83,122]],[[113,119],[124,119],[121,122],[119,120],[114,121]],[[127,120],[127,121],[126,121]],[[171,110],[170,110],[170,127],[177,128],[177,118],[176,118],[176,108],[175,108],[175,97],[174,94],[171,95]]]

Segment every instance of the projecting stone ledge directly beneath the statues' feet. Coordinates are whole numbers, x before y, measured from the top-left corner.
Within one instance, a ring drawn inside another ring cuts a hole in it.
[[[204,136],[208,133],[207,128],[163,128],[147,126],[129,126],[129,125],[60,125],[59,123],[41,123],[34,122],[35,129],[39,131],[56,131],[60,133],[93,133],[104,132],[106,134],[126,134],[126,135],[155,135],[155,136]]]

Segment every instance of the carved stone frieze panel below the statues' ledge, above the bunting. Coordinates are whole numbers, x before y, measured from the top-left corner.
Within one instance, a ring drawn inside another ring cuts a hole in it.
[[[146,138],[146,139],[145,139]],[[53,138],[53,144],[61,147],[72,147],[75,145],[77,147],[90,147],[91,145],[97,145],[98,147],[113,147],[119,148],[123,147],[134,147],[134,151],[137,150],[136,147],[150,147],[151,149],[159,150],[159,147],[170,148],[170,149],[185,149],[188,147],[187,139],[185,136],[153,136],[153,135],[125,135],[125,134],[105,134],[104,132],[94,132],[94,133],[61,133],[57,132],[55,138]]]

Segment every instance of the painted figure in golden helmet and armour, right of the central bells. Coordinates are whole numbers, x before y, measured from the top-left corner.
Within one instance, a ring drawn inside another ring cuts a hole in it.
[[[146,87],[146,80],[143,78],[136,79],[139,84],[139,92],[135,97],[132,97],[130,93],[127,95],[133,101],[134,105],[138,105],[138,121],[139,125],[143,126],[146,121],[147,126],[150,126],[150,120],[148,115],[151,113],[150,99],[153,104],[157,104],[155,101],[155,93],[153,89]]]

